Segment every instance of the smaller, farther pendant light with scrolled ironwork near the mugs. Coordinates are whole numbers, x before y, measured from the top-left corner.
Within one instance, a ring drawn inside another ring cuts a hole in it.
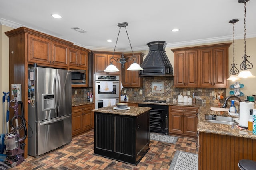
[[[237,23],[238,21],[238,19],[233,19],[228,22],[233,24],[233,64],[231,64],[232,68],[229,71],[229,74],[231,74],[231,76],[227,80],[232,80],[233,82],[236,80],[240,80],[240,78],[236,76],[236,74],[239,73],[239,70],[236,68],[237,64],[235,64],[235,23]]]

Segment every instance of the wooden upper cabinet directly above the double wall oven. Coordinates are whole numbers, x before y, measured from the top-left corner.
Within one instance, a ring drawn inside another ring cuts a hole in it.
[[[121,57],[121,53],[115,53],[112,55],[112,52],[103,52],[103,51],[97,51],[94,53],[94,74],[110,74],[110,75],[120,75],[120,71],[117,72],[104,72],[104,70],[107,68],[107,66],[110,64],[110,58],[114,57],[114,59],[118,59]],[[117,63],[116,61],[113,61],[113,64],[118,68],[118,70],[121,70],[121,64]]]

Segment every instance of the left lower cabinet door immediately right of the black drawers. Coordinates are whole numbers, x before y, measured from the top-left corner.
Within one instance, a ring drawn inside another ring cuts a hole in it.
[[[183,114],[171,113],[169,117],[169,132],[183,134]]]

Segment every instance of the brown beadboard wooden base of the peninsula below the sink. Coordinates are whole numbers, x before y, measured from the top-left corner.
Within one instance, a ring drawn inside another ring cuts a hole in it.
[[[240,170],[241,159],[256,161],[256,139],[199,132],[198,170]]]

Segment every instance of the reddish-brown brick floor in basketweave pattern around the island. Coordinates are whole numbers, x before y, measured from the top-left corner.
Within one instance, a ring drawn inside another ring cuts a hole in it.
[[[74,137],[68,145],[28,158],[12,170],[168,170],[176,150],[198,153],[197,139],[178,137],[176,144],[150,140],[150,150],[137,166],[94,155],[94,130]]]

